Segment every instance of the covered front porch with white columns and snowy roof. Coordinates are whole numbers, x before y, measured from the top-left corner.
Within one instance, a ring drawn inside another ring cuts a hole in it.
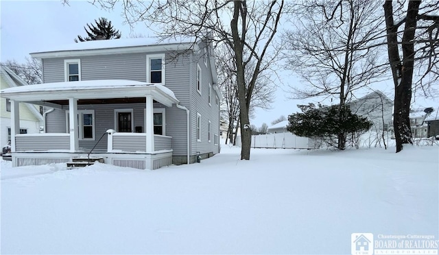
[[[11,101],[13,166],[97,157],[138,169],[172,162],[164,109],[178,99],[165,86],[128,80],[58,82],[5,89],[1,97]],[[47,106],[58,114],[49,121],[45,113],[44,133],[19,134],[19,102]]]

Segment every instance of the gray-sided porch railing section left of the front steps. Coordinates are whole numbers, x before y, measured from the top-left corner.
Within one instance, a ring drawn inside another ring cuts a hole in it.
[[[40,133],[16,134],[16,151],[64,151],[70,149],[70,134]]]

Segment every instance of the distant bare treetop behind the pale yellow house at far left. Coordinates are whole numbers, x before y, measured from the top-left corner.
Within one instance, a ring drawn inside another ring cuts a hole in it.
[[[26,57],[26,62],[23,64],[16,62],[16,60],[6,60],[1,65],[8,66],[26,84],[40,84],[43,82],[43,69],[40,60]]]

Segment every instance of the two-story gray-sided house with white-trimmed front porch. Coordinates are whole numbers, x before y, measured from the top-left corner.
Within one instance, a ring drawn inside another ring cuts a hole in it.
[[[31,53],[44,84],[9,88],[1,97],[54,108],[45,134],[19,134],[14,166],[102,158],[157,169],[219,152],[219,103],[211,43],[152,38],[95,40]],[[15,139],[14,139],[15,138]]]

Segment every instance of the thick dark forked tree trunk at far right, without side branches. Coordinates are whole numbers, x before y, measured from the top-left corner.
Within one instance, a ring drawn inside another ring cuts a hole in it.
[[[403,149],[403,145],[412,142],[410,129],[410,101],[412,100],[412,79],[414,67],[414,35],[416,30],[416,16],[420,1],[409,1],[405,28],[402,38],[403,61],[399,56],[398,27],[393,20],[392,1],[385,1],[385,27],[387,29],[387,43],[390,68],[395,87],[393,128],[396,140],[396,152]]]

